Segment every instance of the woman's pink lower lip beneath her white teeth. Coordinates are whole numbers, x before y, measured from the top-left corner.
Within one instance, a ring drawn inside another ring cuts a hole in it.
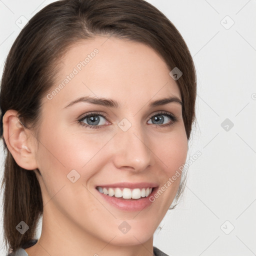
[[[152,202],[149,198],[155,191],[155,188],[156,187],[152,189],[152,192],[147,197],[140,197],[139,199],[123,199],[122,197],[109,196],[107,194],[100,193],[97,189],[96,190],[108,203],[116,208],[125,211],[138,211],[151,205]]]

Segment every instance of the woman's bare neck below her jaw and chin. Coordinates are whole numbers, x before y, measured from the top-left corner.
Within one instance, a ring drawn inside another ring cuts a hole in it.
[[[101,238],[92,232],[84,231],[74,223],[70,223],[68,217],[59,217],[58,215],[58,218],[54,218],[52,214],[49,215],[47,211],[43,212],[40,239],[33,246],[26,248],[29,256],[154,255],[153,236],[146,241],[141,241],[140,237],[136,237],[131,232],[113,234],[109,230],[109,235],[104,234]]]

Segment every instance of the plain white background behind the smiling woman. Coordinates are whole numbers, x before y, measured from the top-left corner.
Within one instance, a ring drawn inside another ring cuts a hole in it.
[[[1,73],[20,16],[29,20],[50,2],[0,0]],[[148,2],[172,21],[193,56],[197,122],[188,157],[201,152],[189,166],[180,204],[155,231],[154,245],[172,256],[256,255],[256,1]],[[2,141],[0,152],[2,177]],[[2,234],[0,254],[6,255]]]

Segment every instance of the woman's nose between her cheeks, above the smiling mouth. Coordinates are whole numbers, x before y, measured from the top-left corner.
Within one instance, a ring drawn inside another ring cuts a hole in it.
[[[114,147],[113,159],[116,168],[139,172],[154,164],[150,138],[140,125],[132,125],[126,131],[118,129]]]

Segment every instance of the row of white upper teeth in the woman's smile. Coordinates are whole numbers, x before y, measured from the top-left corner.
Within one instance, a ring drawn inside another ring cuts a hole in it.
[[[114,197],[122,197],[124,199],[139,199],[140,197],[147,197],[152,192],[152,187],[146,187],[146,188],[106,188],[97,186],[97,190],[100,193],[108,194],[108,196],[114,196]]]

